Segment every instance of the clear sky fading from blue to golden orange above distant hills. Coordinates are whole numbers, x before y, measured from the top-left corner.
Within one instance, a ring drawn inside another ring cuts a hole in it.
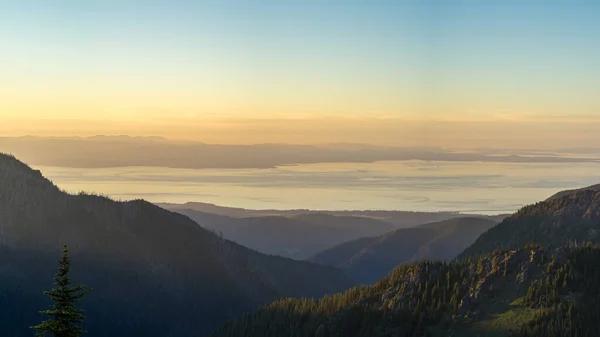
[[[600,140],[598,17],[596,1],[0,0],[0,135],[583,146]]]

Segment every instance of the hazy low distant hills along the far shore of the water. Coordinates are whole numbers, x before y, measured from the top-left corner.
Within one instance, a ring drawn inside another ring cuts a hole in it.
[[[170,168],[271,168],[315,163],[364,163],[394,160],[581,163],[536,151],[447,151],[363,144],[222,145],[172,141],[159,137],[0,137],[0,149],[32,165],[77,168],[154,166]],[[90,156],[90,153],[98,155]]]

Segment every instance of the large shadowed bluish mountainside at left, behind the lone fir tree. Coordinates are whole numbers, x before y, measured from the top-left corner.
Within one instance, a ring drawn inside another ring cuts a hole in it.
[[[341,271],[267,256],[148,202],[69,195],[0,154],[0,326],[25,336],[49,304],[60,247],[90,337],[200,336],[279,297],[319,296],[352,281]]]

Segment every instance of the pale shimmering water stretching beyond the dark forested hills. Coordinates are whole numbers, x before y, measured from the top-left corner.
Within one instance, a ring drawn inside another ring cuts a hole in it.
[[[497,214],[513,212],[560,190],[600,183],[598,163],[395,161],[273,169],[36,168],[69,192],[252,209]]]

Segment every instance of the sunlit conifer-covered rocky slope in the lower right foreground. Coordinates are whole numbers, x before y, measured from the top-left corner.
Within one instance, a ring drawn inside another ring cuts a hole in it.
[[[282,299],[213,337],[596,337],[600,248],[495,251],[399,266],[372,286]]]

